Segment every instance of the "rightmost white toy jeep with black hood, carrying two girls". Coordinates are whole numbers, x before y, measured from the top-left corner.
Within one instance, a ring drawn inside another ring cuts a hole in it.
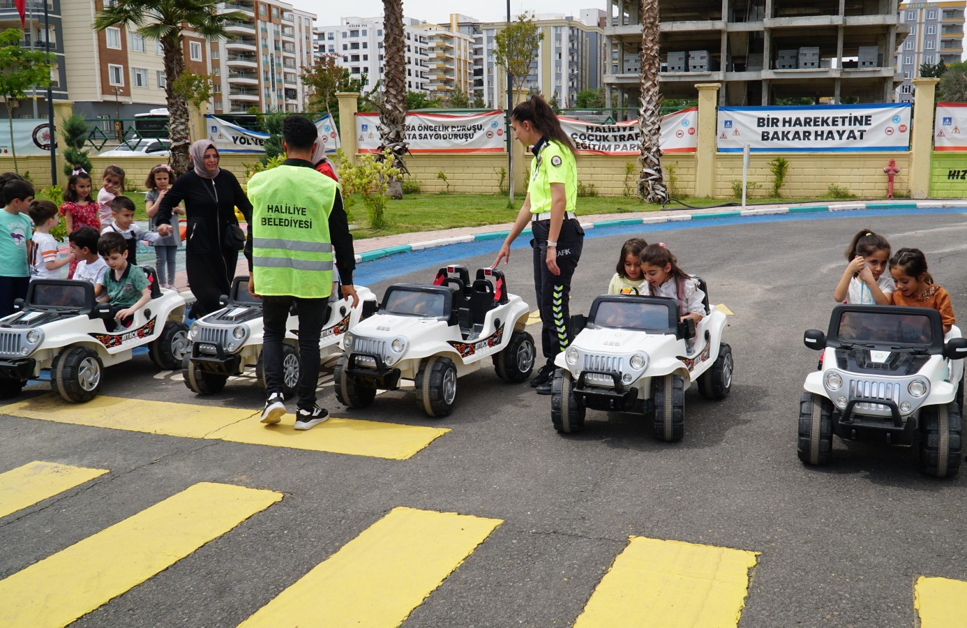
[[[799,404],[801,461],[828,464],[836,434],[918,445],[924,473],[957,473],[967,339],[956,326],[945,343],[936,310],[842,305],[828,334],[810,329],[803,340],[823,353]]]

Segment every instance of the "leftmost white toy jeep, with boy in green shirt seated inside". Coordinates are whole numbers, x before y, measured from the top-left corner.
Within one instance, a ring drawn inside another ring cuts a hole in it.
[[[27,298],[15,303],[18,312],[0,319],[0,398],[15,397],[28,379],[49,370],[61,397],[90,401],[101,388],[103,368],[131,360],[132,350],[145,344],[159,369],[177,369],[188,348],[185,299],[161,290],[153,268],[144,271],[151,301],[128,327],[116,329],[108,305],[95,300],[93,284],[31,282]]]

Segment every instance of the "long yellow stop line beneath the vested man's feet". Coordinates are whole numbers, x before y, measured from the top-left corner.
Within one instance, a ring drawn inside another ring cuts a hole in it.
[[[293,428],[295,417],[267,427],[252,410],[217,405],[172,404],[99,396],[86,404],[65,404],[56,395],[25,399],[0,407],[0,414],[95,428],[211,438],[252,445],[308,449],[351,456],[406,460],[445,428],[332,418],[305,432]]]

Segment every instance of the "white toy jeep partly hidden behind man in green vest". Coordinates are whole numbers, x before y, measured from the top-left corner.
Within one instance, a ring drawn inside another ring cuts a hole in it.
[[[376,311],[376,297],[369,288],[357,285],[360,304],[351,308],[334,289],[329,300],[329,313],[322,325],[319,357],[342,352],[339,339],[362,318]],[[232,293],[220,299],[218,312],[197,319],[189,331],[190,350],[182,363],[185,385],[199,395],[221,392],[230,375],[255,369],[258,385],[265,390],[262,369],[262,301],[249,294],[249,277],[236,277]],[[299,384],[299,318],[293,309],[285,323],[282,342],[282,394],[286,399],[296,394]]]

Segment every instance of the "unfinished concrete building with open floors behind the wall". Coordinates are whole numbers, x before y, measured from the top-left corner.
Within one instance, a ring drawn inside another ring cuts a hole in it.
[[[635,106],[640,80],[640,0],[608,0],[608,105]],[[777,99],[893,101],[906,37],[897,0],[659,0],[661,93],[696,98],[720,82],[721,105]]]

